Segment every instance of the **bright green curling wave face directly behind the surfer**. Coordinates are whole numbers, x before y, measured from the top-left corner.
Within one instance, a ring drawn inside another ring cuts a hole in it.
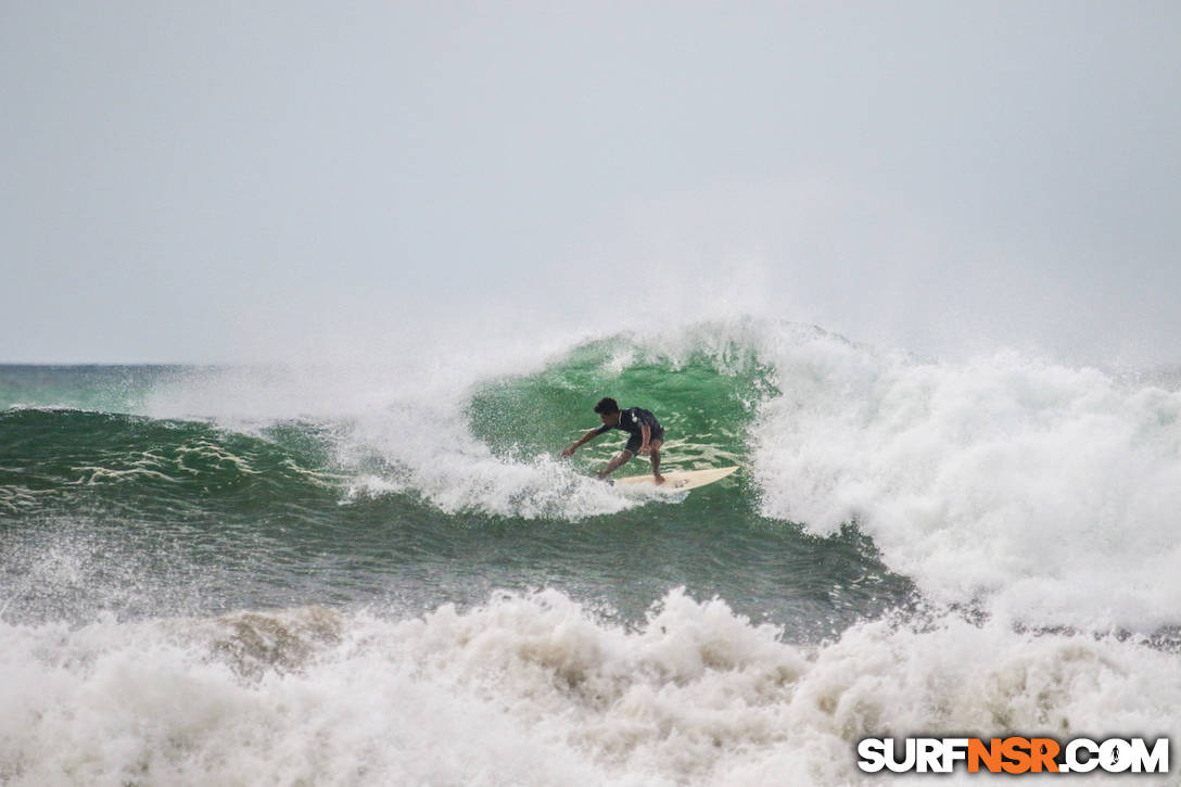
[[[505,458],[553,455],[599,425],[595,403],[651,410],[665,428],[663,466],[699,469],[740,464],[755,409],[778,394],[774,371],[737,344],[685,357],[627,338],[583,345],[540,372],[487,383],[472,395],[472,435]],[[601,463],[626,435],[609,431],[581,449],[580,466]],[[626,471],[637,471],[634,467]]]

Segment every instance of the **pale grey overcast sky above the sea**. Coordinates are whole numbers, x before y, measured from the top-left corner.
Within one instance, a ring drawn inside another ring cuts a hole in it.
[[[0,0],[0,362],[719,299],[1181,362],[1172,0]]]

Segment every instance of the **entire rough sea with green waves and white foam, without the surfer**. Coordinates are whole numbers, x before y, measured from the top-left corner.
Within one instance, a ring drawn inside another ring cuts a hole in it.
[[[867,736],[1179,740],[1176,376],[756,319],[407,346],[0,368],[0,785],[848,785]],[[607,395],[666,468],[742,470],[592,480],[621,437],[559,453]]]

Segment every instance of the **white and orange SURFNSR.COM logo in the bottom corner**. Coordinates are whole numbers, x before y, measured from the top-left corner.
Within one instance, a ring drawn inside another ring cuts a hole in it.
[[[867,737],[857,743],[857,767],[866,773],[1168,773],[1169,739],[1142,737],[1065,744],[1052,737]]]

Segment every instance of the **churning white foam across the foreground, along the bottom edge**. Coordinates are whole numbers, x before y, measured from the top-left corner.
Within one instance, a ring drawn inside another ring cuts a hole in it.
[[[844,785],[872,781],[864,736],[1181,731],[1177,657],[1130,642],[955,616],[778,635],[681,591],[635,630],[553,590],[422,618],[2,624],[0,779]]]

